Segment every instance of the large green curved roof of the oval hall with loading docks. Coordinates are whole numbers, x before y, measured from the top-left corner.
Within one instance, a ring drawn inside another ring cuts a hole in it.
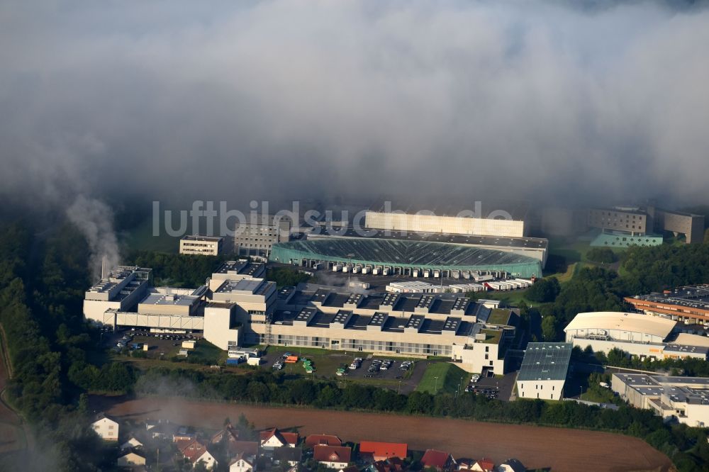
[[[354,254],[351,258],[347,254]],[[540,261],[513,252],[445,244],[441,242],[327,238],[283,242],[272,247],[270,259],[320,259],[353,264],[429,267],[465,270],[501,270],[523,276],[541,275]]]

